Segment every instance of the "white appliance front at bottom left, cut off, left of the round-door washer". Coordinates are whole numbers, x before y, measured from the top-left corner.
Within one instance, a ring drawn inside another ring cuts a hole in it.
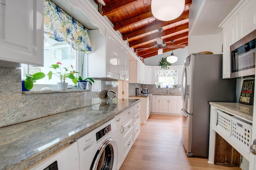
[[[78,146],[74,142],[38,162],[30,170],[79,170]]]

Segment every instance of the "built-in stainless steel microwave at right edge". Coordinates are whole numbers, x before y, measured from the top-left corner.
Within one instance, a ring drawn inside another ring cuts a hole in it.
[[[256,29],[230,45],[230,78],[255,75]]]

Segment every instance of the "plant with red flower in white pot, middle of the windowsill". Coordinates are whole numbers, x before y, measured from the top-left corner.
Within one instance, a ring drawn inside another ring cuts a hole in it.
[[[55,76],[57,76],[60,79],[60,82],[57,82],[58,90],[67,90],[68,83],[66,83],[66,79],[69,78],[72,80],[72,82],[74,82],[76,84],[77,78],[74,76],[74,74],[79,73],[79,72],[76,72],[72,65],[68,66],[68,68],[69,67],[72,68],[72,71],[68,72],[68,68],[64,67],[63,69],[61,69],[60,64],[62,64],[62,63],[57,62],[56,64],[52,64],[52,66],[50,68],[53,68],[54,70],[56,70],[56,73],[49,71],[47,74],[48,79],[49,80],[52,79],[52,74],[54,74]]]

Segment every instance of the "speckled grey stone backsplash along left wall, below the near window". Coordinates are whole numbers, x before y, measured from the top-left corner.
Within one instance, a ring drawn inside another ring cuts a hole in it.
[[[21,70],[2,66],[0,79],[0,127],[104,102],[101,90],[118,90],[116,84],[100,81],[94,91],[22,94]]]

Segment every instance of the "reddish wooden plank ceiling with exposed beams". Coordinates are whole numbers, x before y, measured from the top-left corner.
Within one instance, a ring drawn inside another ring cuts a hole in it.
[[[98,4],[98,0],[94,0]],[[158,54],[156,37],[160,37],[158,28],[162,27],[161,37],[166,45],[188,45],[188,12],[192,0],[185,0],[184,11],[175,20],[160,21],[151,12],[151,0],[104,0],[102,16],[106,16],[119,31],[129,46],[137,50],[139,57],[148,58]],[[140,49],[140,50],[139,50]],[[141,50],[144,49],[144,50]],[[163,53],[172,49],[163,49]]]

